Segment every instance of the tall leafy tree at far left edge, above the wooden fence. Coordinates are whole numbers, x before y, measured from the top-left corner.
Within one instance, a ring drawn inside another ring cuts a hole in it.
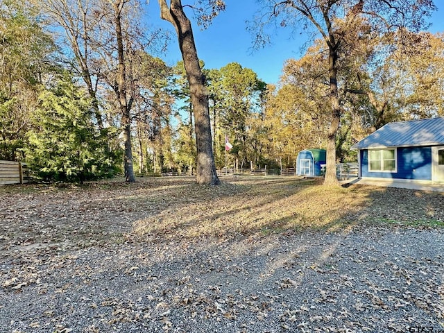
[[[0,3],[0,160],[22,160],[42,80],[53,76],[54,45],[34,8]],[[49,74],[49,75],[48,75]]]

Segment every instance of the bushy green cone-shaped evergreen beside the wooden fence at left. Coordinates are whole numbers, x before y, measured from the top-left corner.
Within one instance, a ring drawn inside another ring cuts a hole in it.
[[[94,130],[91,101],[69,76],[44,90],[39,101],[25,149],[26,161],[37,175],[80,182],[113,176],[118,154],[109,153],[99,130]],[[116,134],[112,128],[108,131]]]

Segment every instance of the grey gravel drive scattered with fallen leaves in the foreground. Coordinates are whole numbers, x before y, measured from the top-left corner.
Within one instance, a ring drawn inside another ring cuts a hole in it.
[[[444,332],[443,273],[427,228],[22,246],[0,332]]]

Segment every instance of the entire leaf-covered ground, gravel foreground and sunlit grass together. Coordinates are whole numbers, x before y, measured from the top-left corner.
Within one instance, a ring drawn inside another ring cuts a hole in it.
[[[443,193],[138,180],[0,187],[0,332],[444,331]]]

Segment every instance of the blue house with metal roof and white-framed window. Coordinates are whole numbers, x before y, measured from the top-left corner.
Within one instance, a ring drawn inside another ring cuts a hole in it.
[[[352,148],[360,178],[444,182],[444,117],[388,123]]]

